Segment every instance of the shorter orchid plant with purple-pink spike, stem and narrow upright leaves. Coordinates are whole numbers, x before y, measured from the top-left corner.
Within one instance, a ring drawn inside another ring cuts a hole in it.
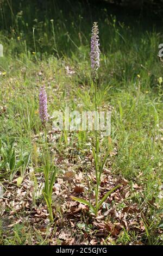
[[[48,157],[48,143],[47,143],[47,131],[46,131],[46,123],[48,121],[48,112],[47,112],[47,94],[46,94],[45,86],[42,86],[40,88],[39,115],[40,115],[41,123],[45,128],[45,137],[46,137],[46,153],[44,157],[45,165],[43,166],[43,174],[45,178],[43,197],[47,204],[49,220],[53,222],[52,192],[53,192],[53,184],[54,184],[55,176],[57,175],[57,168],[55,166],[51,166],[49,162],[49,157]]]

